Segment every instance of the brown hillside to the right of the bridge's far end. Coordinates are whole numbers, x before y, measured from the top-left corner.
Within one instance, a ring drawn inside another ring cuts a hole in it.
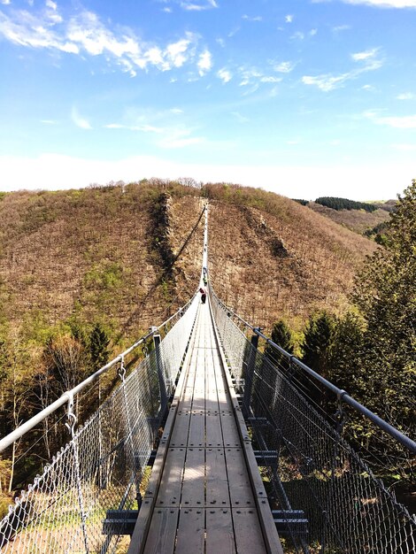
[[[319,308],[347,306],[367,239],[289,198],[261,189],[207,186],[210,272],[235,311],[270,331],[277,319],[299,327]]]

